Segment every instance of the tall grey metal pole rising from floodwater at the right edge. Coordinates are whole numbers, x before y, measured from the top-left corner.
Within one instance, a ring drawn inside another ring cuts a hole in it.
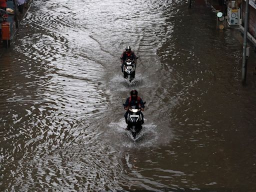
[[[246,46],[247,46],[247,32],[248,32],[248,9],[249,0],[246,0],[245,4],[245,17],[244,17],[244,31],[243,31],[243,47],[242,47],[242,84],[246,85]]]

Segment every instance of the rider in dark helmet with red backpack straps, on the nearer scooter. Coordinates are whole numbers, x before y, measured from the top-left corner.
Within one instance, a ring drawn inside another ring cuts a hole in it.
[[[135,89],[130,91],[130,96],[127,97],[126,102],[124,104],[124,110],[126,110],[126,112],[124,114],[124,118],[125,118],[126,124],[127,124],[127,116],[129,113],[129,107],[132,105],[136,105],[140,108],[141,111],[144,111],[144,108],[145,108],[144,102],[138,96],[138,91]],[[143,124],[144,123],[144,115],[141,111],[139,111],[138,113],[141,114],[141,124]],[[128,130],[128,126],[126,127],[126,130]]]

